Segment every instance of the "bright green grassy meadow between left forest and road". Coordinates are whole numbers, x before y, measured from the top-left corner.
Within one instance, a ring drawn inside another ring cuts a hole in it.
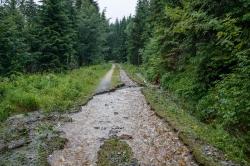
[[[66,111],[85,102],[111,65],[84,67],[66,73],[11,76],[0,79],[0,120],[35,110]]]

